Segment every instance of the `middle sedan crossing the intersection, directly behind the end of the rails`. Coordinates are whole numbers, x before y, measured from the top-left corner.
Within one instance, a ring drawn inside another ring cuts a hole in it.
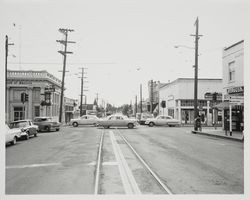
[[[105,119],[100,119],[98,124],[104,128],[109,128],[111,126],[134,128],[138,123],[136,119],[130,119],[127,116],[111,115]]]

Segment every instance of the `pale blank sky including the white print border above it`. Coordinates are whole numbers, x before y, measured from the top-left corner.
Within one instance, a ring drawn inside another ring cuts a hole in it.
[[[64,39],[70,28],[65,96],[79,99],[82,67],[84,94],[93,103],[119,106],[134,102],[147,82],[194,77],[194,22],[199,18],[199,78],[222,78],[222,49],[249,34],[248,0],[0,0],[0,45],[9,46],[8,69],[47,70],[57,78]],[[179,45],[179,48],[174,46]],[[181,47],[183,46],[183,47]],[[184,46],[191,47],[185,48]],[[0,50],[4,66],[4,48]],[[4,69],[1,69],[4,73]]]

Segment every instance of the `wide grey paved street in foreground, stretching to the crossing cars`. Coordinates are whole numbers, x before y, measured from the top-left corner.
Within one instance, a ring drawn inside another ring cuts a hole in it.
[[[190,133],[188,127],[63,127],[6,147],[6,194],[166,194],[122,136],[173,194],[244,193],[244,144]],[[122,163],[122,165],[121,165]],[[131,181],[130,181],[131,182]]]

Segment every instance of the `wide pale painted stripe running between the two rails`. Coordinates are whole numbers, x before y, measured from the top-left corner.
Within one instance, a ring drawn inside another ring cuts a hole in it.
[[[123,183],[123,187],[126,194],[141,194],[141,191],[135,181],[135,178],[128,166],[127,161],[125,160],[122,151],[119,147],[119,145],[116,142],[114,133],[112,131],[109,131],[113,151],[116,157],[116,160],[118,162],[118,167]]]

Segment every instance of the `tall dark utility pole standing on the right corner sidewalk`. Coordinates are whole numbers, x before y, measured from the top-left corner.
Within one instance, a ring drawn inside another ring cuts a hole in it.
[[[191,35],[195,37],[195,64],[194,64],[194,130],[197,131],[198,127],[196,124],[195,119],[198,116],[198,109],[197,109],[197,105],[198,105],[198,100],[197,100],[197,93],[198,93],[198,42],[200,39],[199,35],[199,19],[197,17],[195,24],[196,26],[196,31],[195,31],[195,35]]]

